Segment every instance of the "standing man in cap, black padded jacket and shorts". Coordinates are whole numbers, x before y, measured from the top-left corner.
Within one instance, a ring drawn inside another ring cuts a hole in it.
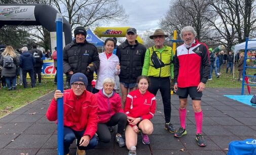
[[[128,28],[126,41],[118,46],[116,55],[119,58],[121,71],[119,74],[122,92],[122,108],[124,108],[128,90],[137,89],[136,80],[142,72],[146,48],[136,40],[137,30]]]

